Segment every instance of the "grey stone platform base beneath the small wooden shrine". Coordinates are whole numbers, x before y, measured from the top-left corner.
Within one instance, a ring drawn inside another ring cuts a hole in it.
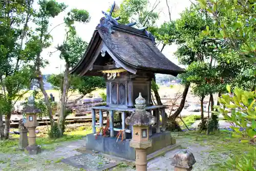
[[[170,135],[170,132],[154,134],[152,139],[152,147],[147,149],[147,155],[152,154],[159,149],[176,143],[176,140]],[[130,147],[130,141],[123,140],[116,142],[116,137],[97,136],[88,134],[86,140],[86,148],[92,151],[101,152],[108,155],[121,157],[128,160],[135,160],[135,149]]]

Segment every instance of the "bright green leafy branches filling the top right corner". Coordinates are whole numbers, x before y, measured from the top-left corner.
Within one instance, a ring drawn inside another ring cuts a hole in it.
[[[251,0],[199,0],[199,4],[216,21],[213,37],[225,45],[218,50],[234,50],[255,66],[255,3]]]

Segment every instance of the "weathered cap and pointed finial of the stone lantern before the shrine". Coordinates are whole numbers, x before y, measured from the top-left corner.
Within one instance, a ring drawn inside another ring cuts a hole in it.
[[[130,117],[125,119],[125,123],[133,126],[147,126],[156,123],[156,117],[145,111],[146,100],[139,93],[139,97],[135,99],[136,111]]]

